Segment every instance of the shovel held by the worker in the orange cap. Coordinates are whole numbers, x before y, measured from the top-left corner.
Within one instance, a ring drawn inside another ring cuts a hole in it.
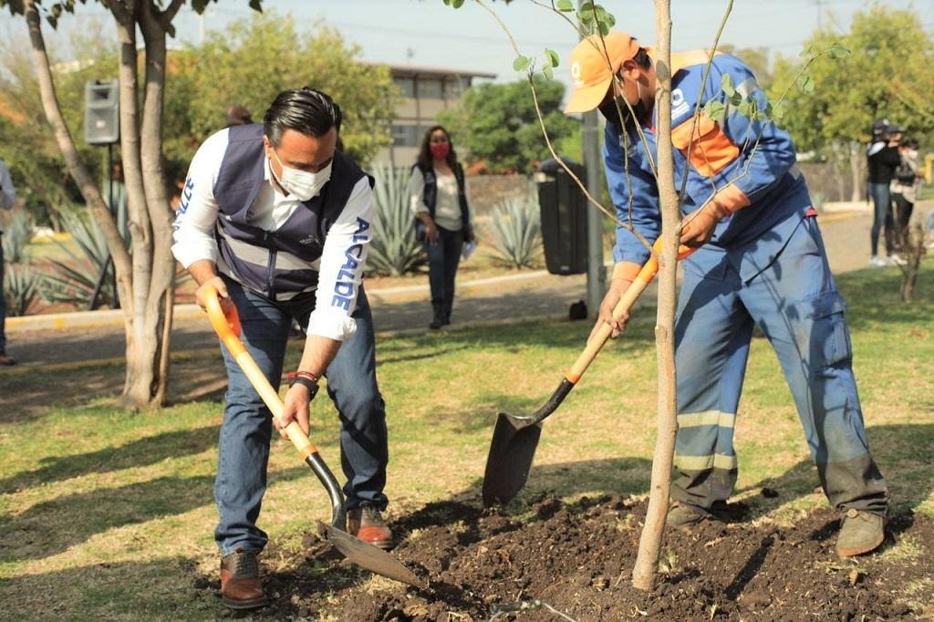
[[[661,252],[660,239],[655,243],[654,251]],[[694,248],[679,247],[678,259],[686,258],[692,252]],[[658,273],[658,260],[655,255],[652,255],[632,281],[629,289],[616,303],[613,309],[614,318],[622,318],[629,312],[648,284],[655,278],[656,273]],[[587,371],[587,367],[597,358],[597,354],[600,353],[612,332],[613,329],[609,324],[601,325],[593,338],[587,342],[587,347],[574,361],[571,369],[561,378],[558,389],[555,389],[541,408],[531,415],[517,416],[500,413],[497,417],[493,439],[489,444],[487,470],[483,476],[485,507],[512,501],[518,491],[525,486],[529,479],[532,459],[535,458],[535,448],[538,447],[538,440],[542,435],[542,422],[545,417],[558,410],[564,398]]]

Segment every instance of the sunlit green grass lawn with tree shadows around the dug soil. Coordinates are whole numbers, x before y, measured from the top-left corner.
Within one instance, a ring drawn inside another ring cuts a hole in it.
[[[898,300],[895,268],[839,278],[870,444],[893,511],[934,515],[934,265],[918,300]],[[654,313],[644,308],[545,424],[519,500],[644,494],[654,446]],[[499,411],[544,402],[584,346],[586,323],[529,322],[384,338],[379,378],[390,431],[389,516],[460,495],[479,503]],[[825,504],[771,348],[756,339],[737,422],[737,497],[793,520]],[[205,357],[214,356],[205,353]],[[297,345],[290,351],[297,360]],[[288,365],[287,365],[288,367]],[[22,378],[23,389],[43,378]],[[312,437],[339,469],[332,404],[313,404]],[[218,402],[130,414],[108,403],[0,415],[0,618],[215,619],[192,587],[215,573],[212,484]],[[763,486],[777,499],[759,495]],[[261,525],[276,551],[302,546],[329,503],[290,445],[276,441]],[[521,510],[517,510],[521,511]],[[276,564],[276,559],[267,563]],[[282,563],[286,563],[282,561]]]

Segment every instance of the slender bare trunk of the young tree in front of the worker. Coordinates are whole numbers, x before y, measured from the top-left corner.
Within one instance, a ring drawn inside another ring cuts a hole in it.
[[[649,590],[655,586],[658,552],[661,550],[672,482],[674,436],[677,431],[676,373],[674,368],[674,306],[677,299],[675,271],[680,223],[678,196],[674,189],[672,156],[672,14],[671,0],[656,0],[656,101],[658,110],[658,197],[661,205],[661,236],[658,258],[658,318],[655,327],[658,359],[658,436],[652,459],[652,482],[639,554],[632,571],[632,586]]]

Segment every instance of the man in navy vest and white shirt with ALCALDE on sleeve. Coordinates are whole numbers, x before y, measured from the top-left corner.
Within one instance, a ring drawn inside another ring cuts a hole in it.
[[[361,284],[373,233],[372,182],[336,150],[340,124],[331,97],[305,87],[279,93],[262,125],[210,136],[191,162],[172,250],[197,281],[202,308],[208,287],[219,291],[225,310],[236,308],[244,344],[274,387],[292,319],[306,327],[284,423],[294,419],[308,431],[308,403],[326,376],[341,419],[347,531],[389,548],[392,533],[380,514],[387,505],[386,410]],[[221,350],[229,387],[214,485],[220,591],[226,606],[250,609],[265,602],[257,555],[268,538],[256,523],[272,418]]]

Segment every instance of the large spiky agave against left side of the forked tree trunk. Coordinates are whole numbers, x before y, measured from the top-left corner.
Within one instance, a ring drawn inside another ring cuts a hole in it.
[[[71,234],[72,240],[78,245],[78,252],[56,240],[55,244],[68,256],[68,260],[51,261],[54,270],[46,275],[43,296],[50,303],[87,306],[91,303],[101,272],[108,265],[108,276],[104,277],[97,301],[100,304],[112,304],[113,279],[109,271],[113,270],[113,264],[108,262],[104,233],[88,219],[82,218],[77,210],[63,210],[60,216],[64,230]]]

